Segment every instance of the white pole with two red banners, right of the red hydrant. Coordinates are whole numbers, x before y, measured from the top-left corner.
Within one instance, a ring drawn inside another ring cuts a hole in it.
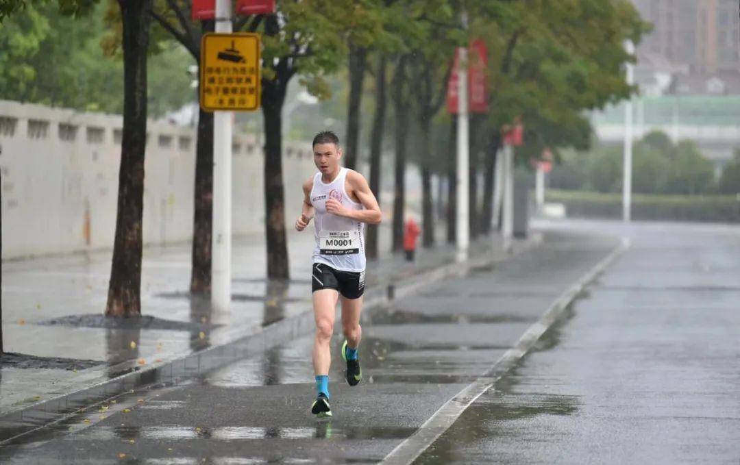
[[[468,13],[462,12],[462,26],[468,29]],[[467,45],[467,44],[466,44]],[[468,48],[457,49],[457,262],[468,259]]]

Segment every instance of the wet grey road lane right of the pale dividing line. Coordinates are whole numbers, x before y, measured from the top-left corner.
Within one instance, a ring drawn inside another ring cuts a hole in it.
[[[740,463],[740,229],[613,228],[630,250],[417,464]]]

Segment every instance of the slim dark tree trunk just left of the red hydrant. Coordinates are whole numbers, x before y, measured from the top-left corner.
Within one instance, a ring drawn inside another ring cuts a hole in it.
[[[396,114],[396,163],[393,203],[393,248],[394,252],[403,248],[403,212],[406,207],[406,140],[408,136],[408,105],[403,98],[406,80],[406,58],[401,58],[393,78],[393,102]]]

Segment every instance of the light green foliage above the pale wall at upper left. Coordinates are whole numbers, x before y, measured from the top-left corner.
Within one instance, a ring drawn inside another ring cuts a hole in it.
[[[116,8],[117,5],[116,5]],[[106,35],[103,5],[73,18],[53,4],[28,5],[0,24],[0,98],[50,106],[121,113],[123,64],[101,49]],[[160,47],[149,62],[152,116],[195,99],[181,47]]]

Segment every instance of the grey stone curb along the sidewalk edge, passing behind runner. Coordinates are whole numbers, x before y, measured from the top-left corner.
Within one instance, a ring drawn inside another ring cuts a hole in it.
[[[468,259],[465,262],[448,263],[431,268],[428,271],[422,271],[408,279],[376,285],[371,289],[375,296],[365,301],[365,310],[368,312],[387,305],[394,299],[417,292],[420,288],[432,282],[462,276],[472,268],[505,261],[525,251],[530,251],[541,243],[542,234],[534,233],[531,234],[530,240],[516,244],[518,246],[515,246],[515,250],[510,254],[494,255],[495,252],[489,249],[486,254],[480,254],[479,257]],[[385,289],[383,286],[386,286]],[[242,328],[238,329],[241,330]],[[0,415],[0,446],[49,424],[64,421],[65,418],[80,413],[88,407],[100,404],[109,398],[129,393],[136,388],[151,384],[172,386],[182,379],[214,370],[238,359],[254,356],[257,353],[262,353],[272,347],[304,336],[314,330],[313,310],[306,310],[266,327],[250,327],[248,329],[252,331],[257,329],[257,332],[248,333],[246,331],[245,334],[245,331],[242,330],[241,336],[230,342],[208,347],[186,356],[175,354],[174,359],[158,364],[149,364],[146,367],[137,367],[135,370],[113,379],[107,379],[70,393],[64,393],[4,413]],[[235,331],[231,333],[235,333]]]

